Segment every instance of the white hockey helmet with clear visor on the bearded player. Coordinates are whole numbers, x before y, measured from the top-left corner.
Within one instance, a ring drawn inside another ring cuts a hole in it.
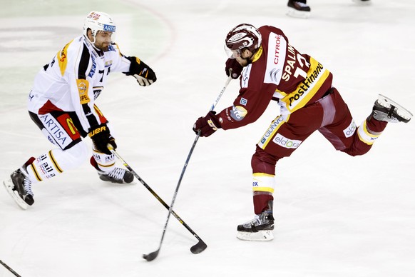
[[[92,36],[94,37],[98,31],[111,31],[112,33],[116,32],[116,24],[111,16],[101,11],[91,11],[88,16],[86,16],[85,22],[83,23],[83,35],[88,38],[87,31],[91,29]]]

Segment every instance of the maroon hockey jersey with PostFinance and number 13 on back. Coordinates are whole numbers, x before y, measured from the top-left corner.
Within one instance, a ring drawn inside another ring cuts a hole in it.
[[[332,86],[332,74],[292,47],[280,29],[262,26],[258,30],[262,44],[252,64],[242,71],[239,95],[218,114],[222,129],[257,121],[272,100],[280,104],[280,114],[291,114],[320,99]]]

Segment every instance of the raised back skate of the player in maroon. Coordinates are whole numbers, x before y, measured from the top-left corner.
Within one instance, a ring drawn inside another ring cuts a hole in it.
[[[372,116],[379,121],[404,123],[409,122],[412,118],[410,111],[381,94],[374,102]]]

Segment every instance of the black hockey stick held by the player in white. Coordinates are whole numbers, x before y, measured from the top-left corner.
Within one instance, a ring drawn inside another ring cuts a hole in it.
[[[121,161],[121,163],[123,163],[123,165],[125,166],[125,168],[127,168],[128,169],[128,171],[130,171],[131,173],[133,173],[133,175],[135,176],[135,178],[137,178],[138,179],[138,181],[140,181],[140,183],[142,183],[143,184],[143,186],[145,186],[145,188],[147,188],[148,189],[148,191],[150,191],[150,193],[151,194],[153,194],[153,196],[155,197],[155,198],[157,198],[157,200],[160,202],[160,203],[162,203],[163,204],[163,206],[165,206],[165,208],[167,208],[168,209],[168,211],[169,211],[169,214],[170,213],[172,213],[173,214],[173,216],[180,222],[180,223],[182,223],[183,224],[183,226],[185,226],[185,228],[186,229],[188,229],[188,231],[190,232],[190,233],[192,233],[192,235],[195,237],[195,238],[197,238],[198,239],[198,243],[196,243],[194,246],[192,246],[191,248],[190,248],[190,251],[192,252],[192,253],[194,253],[194,254],[197,254],[197,253],[200,253],[200,252],[202,252],[203,250],[205,250],[205,248],[207,247],[206,246],[206,243],[204,242],[204,241],[202,241],[202,238],[200,238],[199,236],[198,236],[198,234],[197,233],[195,233],[195,231],[193,231],[192,230],[192,228],[190,228],[189,226],[188,226],[188,224],[186,224],[185,223],[185,221],[183,221],[183,219],[182,218],[180,218],[180,216],[178,216],[178,214],[177,213],[175,213],[175,211],[173,211],[173,209],[172,208],[170,208],[169,206],[168,206],[168,204],[167,203],[165,203],[165,201],[163,201],[163,199],[162,198],[160,198],[160,196],[158,196],[158,194],[157,193],[155,193],[155,191],[153,191],[153,189],[152,188],[150,188],[150,186],[148,186],[148,184],[147,183],[145,183],[145,181],[142,179],[142,178],[140,178],[140,176],[138,176],[138,174],[133,170],[133,168],[131,168],[131,166],[129,166],[128,165],[128,163],[120,156],[120,154],[118,154],[117,153],[117,151],[115,150],[115,149],[113,149],[112,148],[112,146],[110,147],[110,145],[108,145],[108,148],[111,150],[111,152],[118,158],[118,160],[120,160]],[[205,246],[204,248],[203,248],[203,246]],[[200,250],[201,249],[201,250]]]

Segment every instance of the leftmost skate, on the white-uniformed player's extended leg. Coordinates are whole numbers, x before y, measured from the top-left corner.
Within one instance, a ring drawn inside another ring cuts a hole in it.
[[[31,181],[29,180],[25,166],[17,169],[10,175],[10,179],[4,181],[3,184],[10,196],[16,203],[26,210],[26,208],[34,203],[34,194],[31,191]]]

